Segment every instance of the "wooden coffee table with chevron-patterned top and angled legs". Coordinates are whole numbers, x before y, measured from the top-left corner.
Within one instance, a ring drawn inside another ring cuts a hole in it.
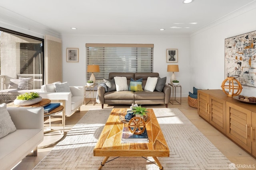
[[[112,109],[94,147],[94,156],[105,156],[98,169],[104,166],[110,156],[152,156],[159,169],[163,170],[157,157],[169,157],[170,151],[153,109],[147,109],[146,129],[149,143],[121,143],[123,127],[128,125],[119,118],[119,113],[124,111],[126,109]]]

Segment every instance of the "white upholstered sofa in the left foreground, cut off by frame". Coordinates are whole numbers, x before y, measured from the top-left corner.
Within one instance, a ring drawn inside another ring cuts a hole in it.
[[[44,139],[43,107],[7,107],[16,131],[0,139],[0,169],[10,170]]]

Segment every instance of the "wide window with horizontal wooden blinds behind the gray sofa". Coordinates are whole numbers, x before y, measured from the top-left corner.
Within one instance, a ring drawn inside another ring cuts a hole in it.
[[[96,83],[110,72],[153,72],[153,44],[86,44],[86,68],[100,65]],[[86,80],[91,74],[86,74]]]

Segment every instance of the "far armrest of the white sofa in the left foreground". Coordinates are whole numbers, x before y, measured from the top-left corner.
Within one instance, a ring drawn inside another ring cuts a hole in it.
[[[43,107],[7,107],[17,129],[44,129]]]

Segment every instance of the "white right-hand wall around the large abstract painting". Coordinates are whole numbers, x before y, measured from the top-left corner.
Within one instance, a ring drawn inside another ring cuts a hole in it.
[[[226,78],[224,75],[225,39],[236,35],[256,31],[254,15],[256,4],[247,11],[221,20],[214,26],[199,30],[190,37],[190,85],[201,89],[221,89]],[[255,96],[256,88],[242,86],[244,96]]]

